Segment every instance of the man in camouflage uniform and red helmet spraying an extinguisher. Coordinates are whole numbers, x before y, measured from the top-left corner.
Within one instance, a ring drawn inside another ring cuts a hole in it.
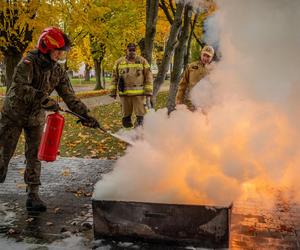
[[[88,108],[74,94],[65,70],[57,63],[70,48],[70,40],[58,28],[50,27],[41,34],[37,49],[30,51],[16,66],[13,82],[7,91],[0,118],[0,183],[5,181],[7,167],[22,130],[25,135],[28,211],[46,211],[39,198],[41,162],[38,147],[45,122],[45,111],[58,111],[57,102],[49,97],[55,89],[67,106],[85,117],[89,127],[99,127],[88,115]]]

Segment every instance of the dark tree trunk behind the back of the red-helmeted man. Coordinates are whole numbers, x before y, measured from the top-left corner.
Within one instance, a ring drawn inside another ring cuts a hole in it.
[[[7,51],[4,53],[5,65],[5,86],[6,91],[10,88],[14,69],[22,58],[22,53],[17,51]]]

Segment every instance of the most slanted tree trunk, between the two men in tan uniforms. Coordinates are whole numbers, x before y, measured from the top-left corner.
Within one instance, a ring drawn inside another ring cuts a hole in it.
[[[174,48],[176,47],[176,44],[177,44],[177,36],[178,36],[178,33],[181,28],[182,13],[184,10],[184,6],[185,6],[185,4],[181,3],[181,2],[179,2],[177,4],[174,22],[171,26],[171,31],[170,31],[170,35],[169,35],[169,38],[167,41],[167,46],[165,48],[164,56],[162,59],[162,64],[159,67],[157,77],[154,81],[154,89],[153,89],[153,102],[154,103],[156,101],[156,95],[159,91],[159,88],[161,87],[161,85],[163,84],[163,82],[166,78],[166,74],[168,72],[170,61],[171,61],[171,56],[172,56]]]

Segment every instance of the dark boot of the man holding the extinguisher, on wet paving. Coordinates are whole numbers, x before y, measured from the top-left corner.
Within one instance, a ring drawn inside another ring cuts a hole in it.
[[[26,201],[26,208],[28,212],[45,212],[47,210],[46,204],[40,199],[38,191],[39,185],[28,185],[28,197]]]

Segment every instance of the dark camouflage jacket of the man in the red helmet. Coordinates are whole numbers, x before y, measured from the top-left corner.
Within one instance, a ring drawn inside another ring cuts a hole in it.
[[[86,105],[75,96],[66,71],[47,55],[30,51],[15,68],[2,114],[20,126],[38,126],[45,120],[39,93],[50,95],[53,90],[72,111],[80,115],[88,112]]]

